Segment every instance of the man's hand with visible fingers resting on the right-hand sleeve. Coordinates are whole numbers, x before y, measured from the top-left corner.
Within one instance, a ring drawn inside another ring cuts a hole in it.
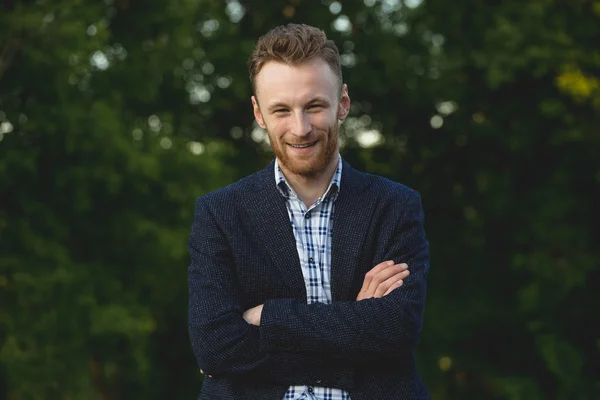
[[[377,264],[365,275],[356,301],[387,296],[392,290],[402,286],[409,274],[406,264],[394,264],[392,260]]]

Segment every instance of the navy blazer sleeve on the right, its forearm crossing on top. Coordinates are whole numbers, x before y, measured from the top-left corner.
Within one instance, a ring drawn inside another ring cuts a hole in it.
[[[398,202],[401,207],[403,202]],[[407,263],[404,284],[387,296],[332,304],[304,304],[295,299],[265,302],[260,322],[264,351],[294,348],[301,353],[329,353],[353,360],[394,358],[412,352],[418,341],[425,304],[429,244],[423,229],[418,192],[410,191],[380,261]]]

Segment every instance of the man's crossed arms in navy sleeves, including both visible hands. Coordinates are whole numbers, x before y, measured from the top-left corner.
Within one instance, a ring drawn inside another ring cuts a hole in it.
[[[393,261],[367,274],[357,301],[325,305],[273,299],[250,310],[237,300],[227,240],[199,201],[189,243],[190,338],[199,365],[214,376],[256,376],[289,385],[351,376],[349,360],[390,359],[412,351],[420,331],[428,251],[418,195],[411,200],[398,216],[390,248],[379,255]],[[409,278],[403,264],[410,268]],[[400,285],[402,290],[395,290]]]

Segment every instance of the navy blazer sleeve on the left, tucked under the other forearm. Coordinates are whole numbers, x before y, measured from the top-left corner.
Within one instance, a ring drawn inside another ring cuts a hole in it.
[[[285,348],[277,354],[261,351],[259,328],[243,318],[232,249],[203,198],[196,203],[188,248],[189,335],[198,365],[207,375],[284,385],[351,386],[351,367],[326,355]]]

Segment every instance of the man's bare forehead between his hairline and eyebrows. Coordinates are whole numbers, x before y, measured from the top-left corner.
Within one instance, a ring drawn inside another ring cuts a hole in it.
[[[292,102],[312,97],[337,97],[338,80],[331,67],[320,58],[299,65],[269,61],[256,76],[259,102]]]

